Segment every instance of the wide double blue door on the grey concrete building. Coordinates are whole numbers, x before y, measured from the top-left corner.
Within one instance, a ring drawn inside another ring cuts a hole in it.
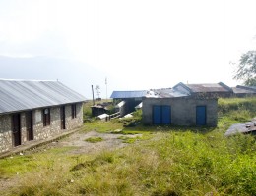
[[[154,106],[153,107],[153,123],[154,124],[170,124],[171,108],[170,106]]]

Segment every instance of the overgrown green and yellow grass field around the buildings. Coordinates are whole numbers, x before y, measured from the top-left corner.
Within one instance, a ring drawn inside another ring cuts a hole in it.
[[[232,123],[256,117],[256,99],[220,99],[219,123],[209,127],[143,126],[93,121],[85,131],[122,129],[129,145],[96,154],[53,148],[0,160],[1,195],[255,195],[256,143],[224,137]],[[129,141],[126,134],[142,134]],[[96,139],[97,140],[97,139]]]

